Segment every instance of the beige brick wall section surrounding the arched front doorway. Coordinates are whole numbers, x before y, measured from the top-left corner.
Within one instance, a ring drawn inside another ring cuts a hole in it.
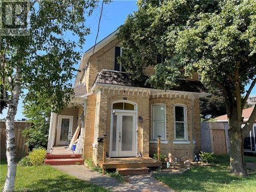
[[[121,93],[122,92],[122,93]],[[108,93],[108,91],[100,93],[100,113],[99,113],[99,134],[98,137],[103,137],[103,135],[107,135],[107,152],[109,153],[110,147],[110,129],[111,129],[111,109],[112,103],[117,100],[123,100],[123,97],[126,97],[128,101],[133,101],[137,103],[138,106],[138,116],[142,116],[143,122],[138,123],[138,142],[136,143],[136,147],[138,148],[138,153],[142,152],[144,157],[149,156],[149,97],[144,93],[143,96],[140,93],[139,95],[136,93],[133,96],[128,95],[128,93],[123,93],[121,91],[118,95],[118,91],[113,90]],[[97,161],[102,160],[102,152],[103,144],[98,143],[97,149],[94,149],[94,157],[93,159],[97,159]]]

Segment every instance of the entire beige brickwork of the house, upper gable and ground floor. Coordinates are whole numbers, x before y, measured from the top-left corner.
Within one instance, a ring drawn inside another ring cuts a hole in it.
[[[84,78],[84,83],[87,87],[87,92],[91,92],[93,82],[97,74],[103,70],[114,70],[115,64],[115,47],[121,46],[118,39],[114,39],[109,42],[108,45],[97,51],[93,59],[89,58],[90,67],[87,70],[86,77]],[[84,63],[85,65],[86,63]],[[154,73],[154,67],[147,67],[144,71],[145,74]],[[196,79],[196,77],[194,77]],[[166,155],[172,153],[174,156],[190,155],[195,152],[200,152],[200,117],[199,117],[199,99],[196,98],[193,101],[187,98],[149,98],[142,96],[141,93],[137,95],[135,93],[128,95],[121,91],[118,94],[116,90],[104,93],[99,93],[97,96],[95,94],[90,95],[87,101],[87,115],[85,117],[85,129],[84,129],[84,157],[93,157],[94,162],[102,159],[102,143],[99,143],[97,148],[93,147],[94,142],[94,129],[95,129],[95,109],[96,103],[100,103],[100,113],[99,113],[99,132],[97,137],[102,137],[103,135],[108,136],[108,148],[109,153],[109,140],[110,140],[110,121],[111,121],[111,104],[115,100],[122,100],[123,97],[127,97],[128,100],[134,101],[138,104],[138,116],[142,116],[143,122],[138,123],[138,152],[142,152],[144,157],[152,156],[157,149],[156,144],[149,143],[151,138],[151,104],[163,102],[166,103],[166,131],[167,131],[167,141],[168,144],[162,144],[162,152]],[[190,144],[173,144],[174,140],[174,115],[173,115],[173,105],[175,103],[183,103],[187,105],[187,118],[188,118],[188,139]],[[194,113],[192,112],[194,109]],[[194,118],[192,118],[192,116]],[[194,126],[193,126],[194,124]],[[194,128],[193,128],[194,127]],[[195,130],[195,140],[196,143],[193,144],[193,129]]]

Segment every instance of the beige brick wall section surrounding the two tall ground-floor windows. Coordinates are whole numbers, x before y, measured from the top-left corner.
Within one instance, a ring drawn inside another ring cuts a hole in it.
[[[168,154],[172,154],[174,157],[180,157],[184,155],[193,156],[195,153],[200,152],[201,146],[201,131],[200,131],[200,116],[199,116],[199,99],[195,101],[183,98],[151,98],[150,99],[150,114],[151,105],[156,103],[166,104],[166,141],[167,144],[161,144],[161,153],[168,157]],[[187,130],[188,130],[188,141],[190,144],[174,144],[175,133],[174,133],[174,104],[185,104],[187,107]],[[194,109],[193,109],[194,108]],[[151,116],[150,116],[151,122]],[[193,130],[195,134],[193,134]],[[196,148],[194,152],[193,135],[195,135]],[[150,139],[152,138],[152,124],[150,123]],[[152,157],[157,153],[157,144],[150,143],[150,156]]]

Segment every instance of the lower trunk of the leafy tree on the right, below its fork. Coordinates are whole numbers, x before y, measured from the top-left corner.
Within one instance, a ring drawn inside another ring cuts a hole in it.
[[[230,173],[246,176],[244,139],[239,123],[229,125],[228,135],[230,139]]]

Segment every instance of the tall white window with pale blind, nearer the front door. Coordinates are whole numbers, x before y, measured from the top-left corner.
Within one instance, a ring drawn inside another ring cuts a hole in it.
[[[152,139],[156,140],[161,136],[161,140],[166,139],[166,118],[165,104],[152,105]]]

